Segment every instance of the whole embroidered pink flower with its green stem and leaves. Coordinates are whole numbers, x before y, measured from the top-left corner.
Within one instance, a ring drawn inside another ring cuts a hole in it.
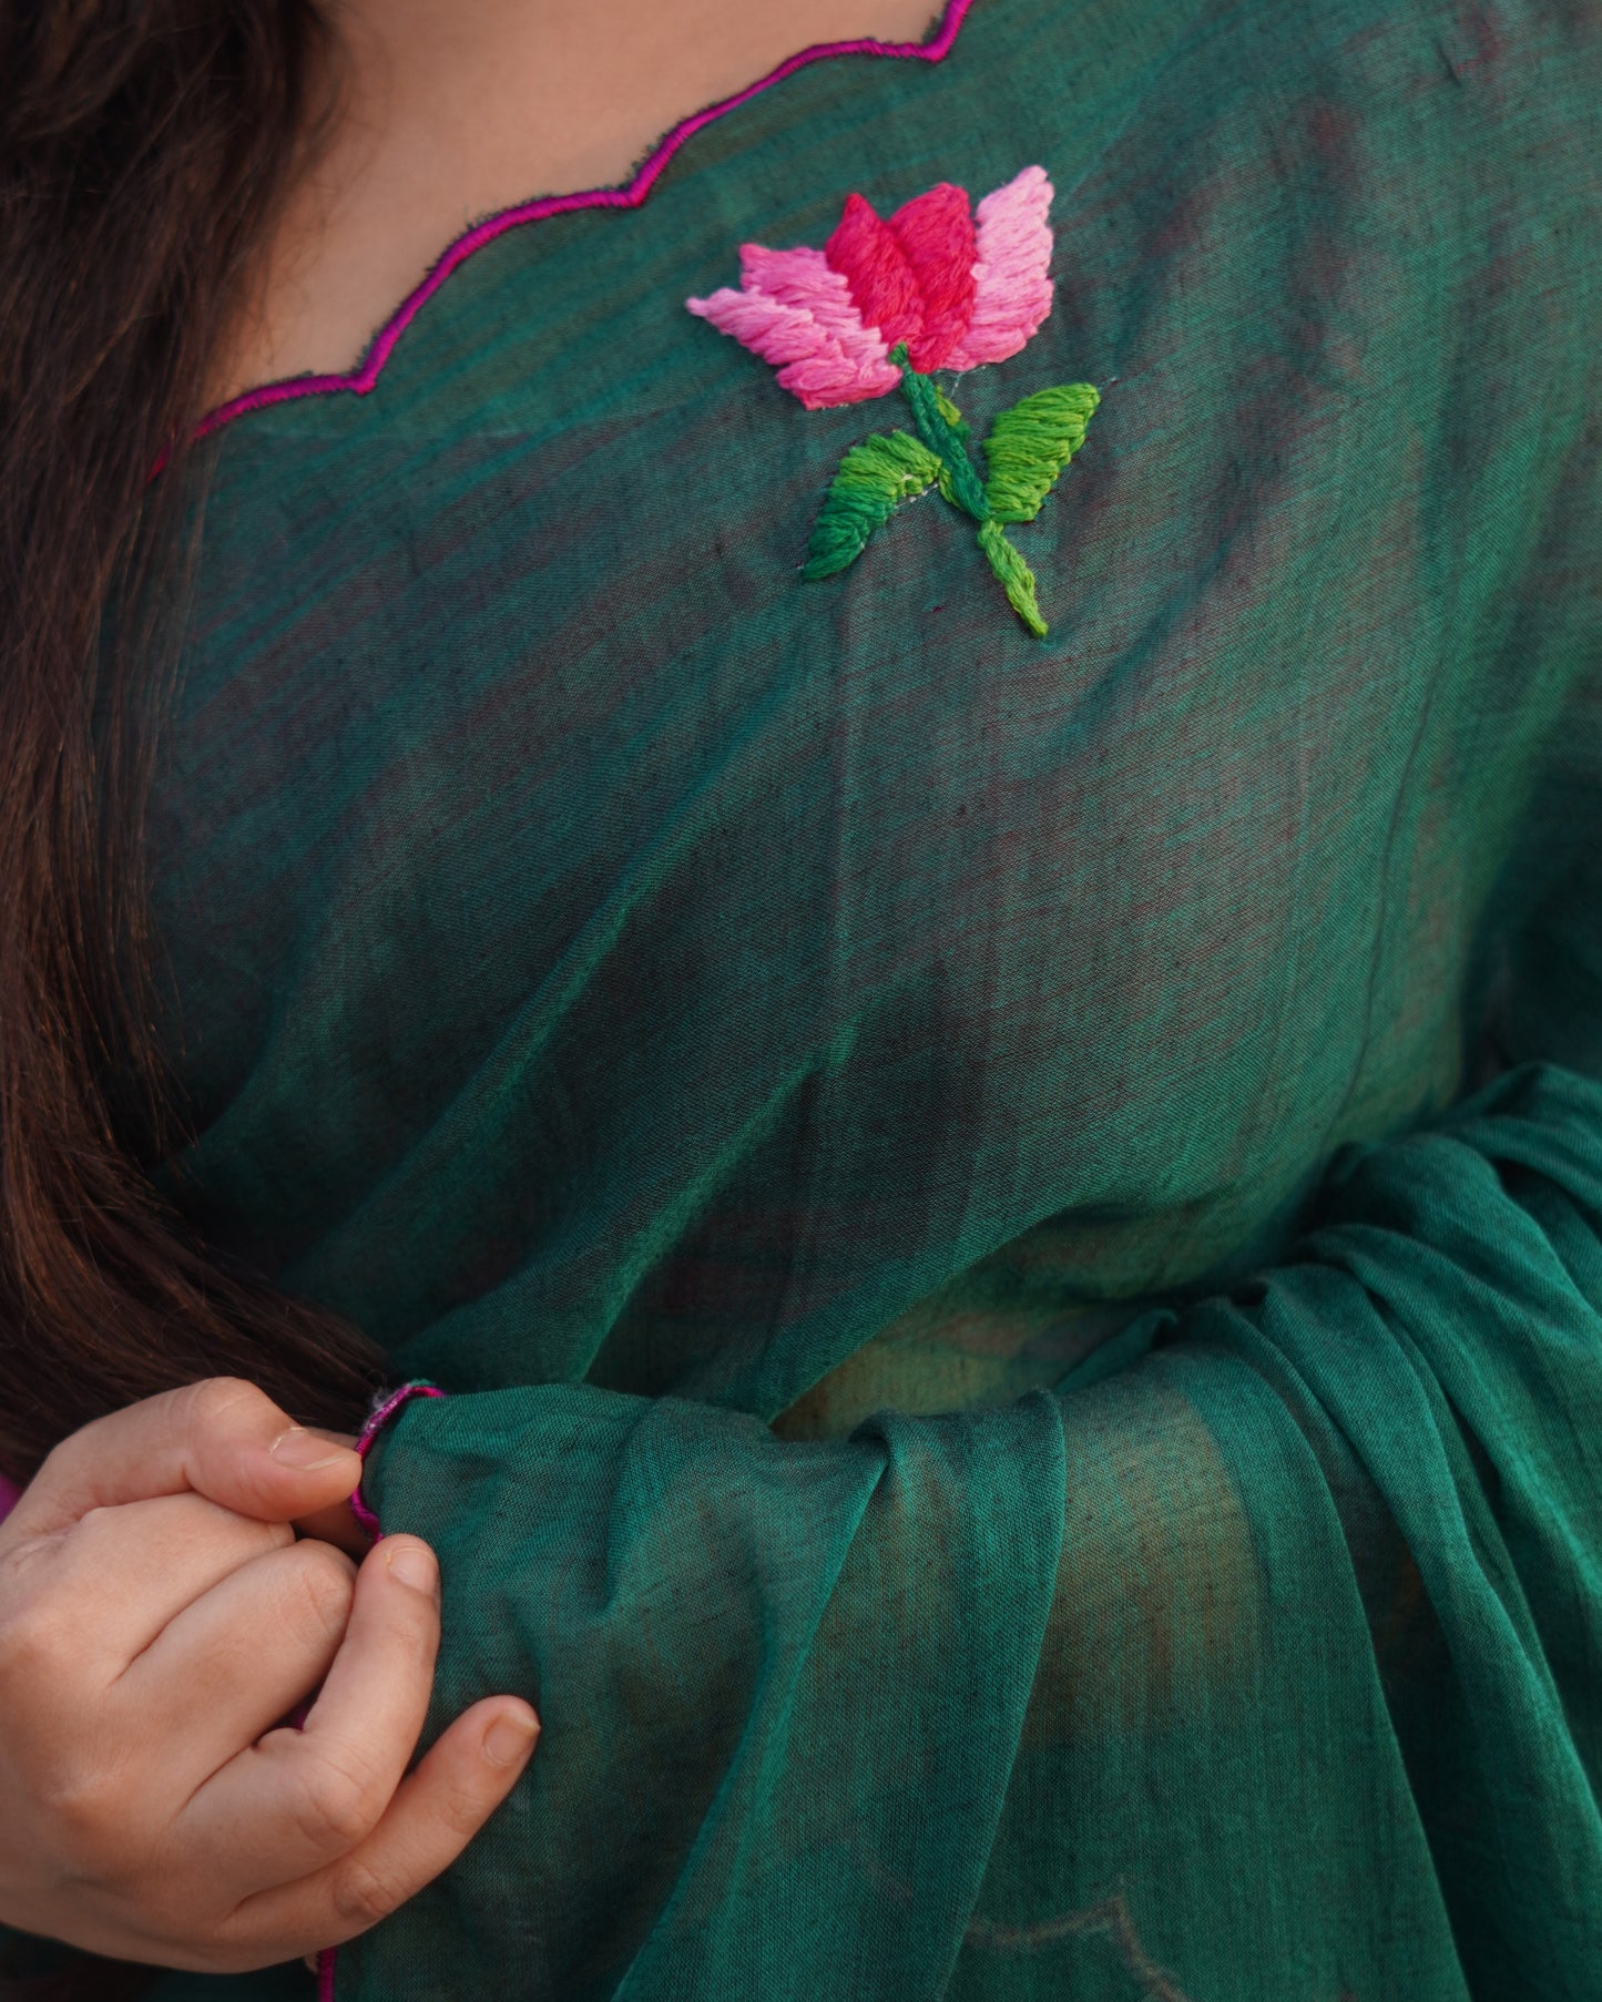
[[[1101,402],[1091,382],[1035,390],[1001,410],[983,440],[985,478],[969,426],[933,380],[1017,354],[1051,312],[1051,182],[1025,166],[969,212],[949,182],[913,196],[889,220],[861,194],[821,250],[741,244],[741,286],[685,304],[777,366],[809,410],[867,402],[899,388],[917,436],[871,432],[829,482],[807,543],[803,577],[849,569],[903,500],[935,486],[977,523],[977,543],[1035,637],[1045,621],[1029,565],[1007,523],[1033,521],[1085,442]]]

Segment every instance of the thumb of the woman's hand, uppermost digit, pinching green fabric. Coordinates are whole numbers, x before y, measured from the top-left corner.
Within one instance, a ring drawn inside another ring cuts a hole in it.
[[[346,1499],[356,1453],[296,1425],[242,1377],[204,1377],[74,1431],[50,1453],[6,1524],[50,1536],[92,1508],[194,1491],[258,1522],[294,1522]]]

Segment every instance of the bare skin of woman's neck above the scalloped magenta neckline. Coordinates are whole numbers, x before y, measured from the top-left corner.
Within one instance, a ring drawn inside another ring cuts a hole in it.
[[[939,0],[340,0],[338,112],[264,246],[214,406],[354,368],[453,236],[621,182],[679,118],[811,42],[919,40]]]

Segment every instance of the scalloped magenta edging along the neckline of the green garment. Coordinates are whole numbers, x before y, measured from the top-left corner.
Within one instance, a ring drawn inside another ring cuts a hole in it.
[[[945,0],[939,28],[929,42],[877,42],[871,36],[865,36],[855,42],[815,42],[811,48],[803,48],[799,54],[787,56],[777,68],[769,70],[767,76],[757,78],[755,84],[747,84],[745,90],[737,90],[731,98],[721,98],[717,104],[707,104],[703,110],[691,112],[689,118],[681,118],[667,138],[663,138],[645,156],[635,178],[623,188],[587,188],[579,194],[543,194],[533,202],[517,202],[513,208],[499,208],[493,216],[485,216],[483,222],[475,222],[473,228],[463,230],[455,242],[447,244],[439,258],[429,266],[429,274],[413,286],[413,290],[400,300],[394,312],[372,336],[360,366],[352,374],[282,376],[278,382],[262,382],[258,388],[246,388],[238,396],[230,396],[228,402],[220,402],[214,410],[208,410],[194,426],[192,438],[204,438],[208,432],[220,430],[236,416],[244,416],[246,410],[260,410],[274,402],[292,402],[296,396],[330,396],[338,390],[348,390],[354,396],[366,396],[376,386],[378,376],[384,372],[384,364],[394,352],[394,346],[405,330],[445,284],[451,272],[465,264],[475,250],[483,250],[485,244],[495,242],[495,238],[503,236],[507,230],[521,228],[525,222],[543,222],[547,216],[561,216],[573,208],[639,208],[661,178],[673,154],[679,152],[679,148],[703,126],[713,124],[717,118],[737,110],[741,104],[749,104],[751,98],[759,96],[763,90],[771,90],[773,84],[781,84],[787,76],[793,76],[797,70],[805,70],[813,62],[827,62],[835,56],[897,56],[915,62],[941,62],[951,54],[963,18],[971,6],[973,0]],[[150,478],[154,478],[166,464],[166,456],[168,454],[162,452],[150,468]]]

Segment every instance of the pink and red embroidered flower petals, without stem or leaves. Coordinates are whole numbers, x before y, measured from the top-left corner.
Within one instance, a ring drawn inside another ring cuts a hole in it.
[[[685,300],[779,368],[809,410],[885,396],[917,372],[1001,362],[1051,312],[1051,182],[1025,166],[975,214],[939,182],[885,220],[861,194],[821,250],[741,244],[741,286]]]

